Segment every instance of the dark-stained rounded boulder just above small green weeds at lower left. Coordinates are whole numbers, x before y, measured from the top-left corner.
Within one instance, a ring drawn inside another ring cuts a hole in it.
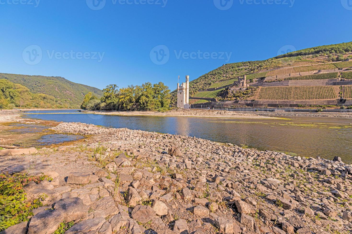
[[[88,214],[88,206],[80,198],[60,199],[55,203],[54,209],[61,212],[65,222],[82,219]]]

